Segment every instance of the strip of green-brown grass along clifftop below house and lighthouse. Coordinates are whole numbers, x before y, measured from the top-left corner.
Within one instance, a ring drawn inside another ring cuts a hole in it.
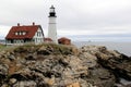
[[[56,45],[56,44],[41,44],[41,45],[26,44],[23,46],[0,45],[0,51],[3,50],[14,51],[17,53],[25,53],[25,54],[38,52],[40,48],[47,50],[46,52],[49,52],[49,54],[73,54],[72,47],[66,45]]]

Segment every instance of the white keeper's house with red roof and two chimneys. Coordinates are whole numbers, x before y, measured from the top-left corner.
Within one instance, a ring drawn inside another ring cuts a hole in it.
[[[44,32],[40,25],[12,26],[5,37],[7,45],[23,45],[33,42],[35,45],[44,42]]]

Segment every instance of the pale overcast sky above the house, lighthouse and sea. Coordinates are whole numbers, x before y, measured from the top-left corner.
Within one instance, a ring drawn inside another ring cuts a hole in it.
[[[47,36],[51,4],[59,36],[128,35],[131,39],[131,0],[0,0],[0,38],[11,26],[33,22]]]

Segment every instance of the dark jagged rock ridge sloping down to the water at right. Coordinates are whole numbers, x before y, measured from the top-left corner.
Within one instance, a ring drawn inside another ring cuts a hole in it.
[[[103,46],[85,46],[82,47],[82,51],[95,55],[99,64],[114,72],[118,82],[120,77],[131,80],[131,59],[129,57],[118,51],[107,50]]]

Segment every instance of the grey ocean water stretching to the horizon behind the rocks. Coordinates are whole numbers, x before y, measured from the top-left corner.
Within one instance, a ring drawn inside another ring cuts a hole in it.
[[[82,46],[105,46],[109,50],[117,50],[128,57],[131,57],[131,42],[115,42],[115,41],[74,41],[76,47]]]

